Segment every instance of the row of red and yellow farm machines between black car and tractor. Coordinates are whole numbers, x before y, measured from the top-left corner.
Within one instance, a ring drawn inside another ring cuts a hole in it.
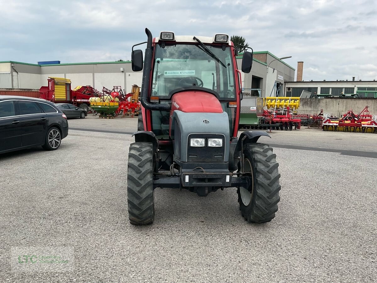
[[[137,85],[132,86],[128,94],[121,86],[114,86],[112,90],[103,87],[102,92],[92,86],[77,86],[71,88],[71,81],[67,78],[49,77],[48,86],[39,89],[40,98],[54,103],[70,103],[89,112],[100,114],[100,117],[116,117],[118,115],[138,115],[140,109]]]

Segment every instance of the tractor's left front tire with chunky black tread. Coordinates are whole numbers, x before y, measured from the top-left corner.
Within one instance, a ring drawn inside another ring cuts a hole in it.
[[[130,223],[146,225],[155,218],[153,145],[131,143],[128,154],[127,202]]]

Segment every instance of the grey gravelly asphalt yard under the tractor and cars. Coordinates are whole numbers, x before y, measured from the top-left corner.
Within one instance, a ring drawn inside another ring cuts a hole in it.
[[[377,281],[377,135],[303,128],[262,137],[281,174],[270,223],[244,221],[235,189],[205,198],[157,189],[155,222],[135,227],[126,192],[133,138],[101,131],[136,124],[89,114],[69,120],[57,151],[0,155],[0,282]],[[71,249],[70,271],[15,270],[12,251],[30,246]]]

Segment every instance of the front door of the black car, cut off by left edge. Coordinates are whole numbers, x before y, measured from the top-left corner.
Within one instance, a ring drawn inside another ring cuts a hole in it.
[[[13,100],[0,101],[0,152],[21,147],[20,117]]]

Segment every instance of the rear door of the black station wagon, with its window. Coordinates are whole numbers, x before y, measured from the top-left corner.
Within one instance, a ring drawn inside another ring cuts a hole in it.
[[[47,115],[43,113],[37,102],[31,100],[17,100],[21,117],[21,145],[43,145],[46,138]]]

